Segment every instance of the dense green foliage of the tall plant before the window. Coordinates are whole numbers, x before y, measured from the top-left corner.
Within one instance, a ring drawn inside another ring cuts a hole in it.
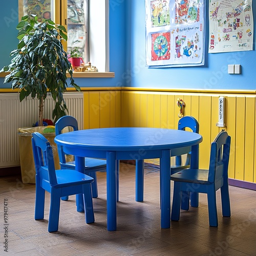
[[[56,121],[68,111],[62,96],[68,87],[67,72],[71,75],[71,86],[80,91],[61,44],[61,40],[68,38],[67,31],[51,19],[39,22],[35,15],[23,16],[16,28],[19,42],[10,54],[11,64],[2,69],[11,71],[4,82],[12,81],[12,88],[20,90],[20,101],[29,95],[45,99],[50,92],[55,100],[53,118]]]

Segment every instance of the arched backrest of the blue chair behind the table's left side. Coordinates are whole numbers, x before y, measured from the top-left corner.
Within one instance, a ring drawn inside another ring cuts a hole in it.
[[[62,116],[55,123],[55,134],[61,134],[62,130],[67,126],[72,127],[74,131],[78,131],[78,123],[73,116]],[[60,163],[66,163],[65,152],[63,152],[63,147],[61,145],[57,145],[57,148]]]

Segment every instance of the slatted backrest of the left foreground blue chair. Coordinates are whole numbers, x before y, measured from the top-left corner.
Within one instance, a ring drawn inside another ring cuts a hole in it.
[[[50,142],[38,132],[32,133],[32,149],[36,175],[51,186],[57,184],[53,152]],[[37,180],[37,179],[36,179]]]

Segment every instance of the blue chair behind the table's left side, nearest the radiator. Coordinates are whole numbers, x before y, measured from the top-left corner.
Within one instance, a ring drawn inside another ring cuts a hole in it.
[[[73,131],[78,131],[78,123],[77,120],[72,116],[63,116],[57,120],[55,123],[55,134],[59,135],[66,127],[72,127]],[[63,147],[61,145],[57,145],[58,155],[61,168],[75,170],[75,161],[66,162],[66,154],[63,151]],[[74,157],[72,156],[72,160]],[[98,189],[97,189],[97,177],[95,172],[105,171],[106,170],[106,160],[96,159],[96,158],[85,158],[85,166],[84,173],[88,174],[94,179],[92,183],[92,195],[93,198],[98,197]],[[68,200],[68,198],[62,198],[62,200]]]

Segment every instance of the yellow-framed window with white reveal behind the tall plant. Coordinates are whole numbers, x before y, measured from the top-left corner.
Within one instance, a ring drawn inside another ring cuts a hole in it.
[[[105,72],[109,71],[108,6],[109,0],[19,0],[19,19],[33,13],[65,26],[67,53],[78,47],[85,63]]]

